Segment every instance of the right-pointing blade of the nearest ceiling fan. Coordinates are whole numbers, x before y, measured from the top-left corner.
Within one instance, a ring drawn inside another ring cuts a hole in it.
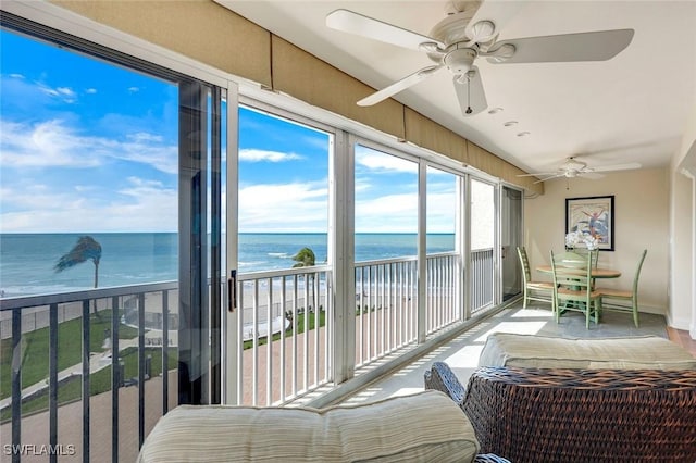
[[[492,47],[492,63],[550,63],[569,61],[605,61],[616,57],[631,43],[633,29],[598,30],[501,40]],[[505,45],[514,46],[511,58],[496,60],[495,52]]]

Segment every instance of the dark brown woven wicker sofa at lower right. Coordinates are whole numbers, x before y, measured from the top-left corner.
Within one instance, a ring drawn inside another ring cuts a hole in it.
[[[536,339],[522,339],[522,345],[534,346]],[[674,345],[666,346],[662,353],[642,350],[650,342],[655,339],[618,341],[635,347],[629,360],[607,359],[609,364],[619,362],[621,368],[602,367],[596,358],[586,358],[586,349],[574,352],[573,359],[562,359],[558,349],[542,362],[534,359],[554,367],[480,366],[465,389],[447,364],[437,362],[425,373],[425,388],[446,392],[459,404],[474,427],[482,453],[514,463],[694,463],[696,359],[685,351],[685,356],[678,355],[680,364],[667,358],[668,351],[681,349]],[[499,359],[515,359],[510,363],[531,362],[524,355],[500,354],[506,349],[495,339],[492,343],[482,359],[490,360],[493,352],[494,358],[497,353]],[[637,361],[641,355],[643,360]],[[573,367],[559,367],[564,362]],[[594,367],[579,367],[583,362]],[[651,362],[662,367],[644,364]]]

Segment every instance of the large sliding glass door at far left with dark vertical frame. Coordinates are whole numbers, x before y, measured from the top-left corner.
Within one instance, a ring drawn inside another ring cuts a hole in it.
[[[220,401],[225,89],[1,14],[0,440],[135,460]]]

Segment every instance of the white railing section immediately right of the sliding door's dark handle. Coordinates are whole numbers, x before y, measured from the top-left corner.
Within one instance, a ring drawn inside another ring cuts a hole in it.
[[[237,403],[282,404],[325,385],[333,349],[330,267],[252,272],[238,281]]]

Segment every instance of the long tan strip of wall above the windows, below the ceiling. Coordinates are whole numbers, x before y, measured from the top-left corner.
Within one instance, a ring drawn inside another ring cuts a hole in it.
[[[52,3],[225,73],[450,157],[530,191],[543,184],[396,100],[356,101],[369,87],[210,0],[51,0]]]

